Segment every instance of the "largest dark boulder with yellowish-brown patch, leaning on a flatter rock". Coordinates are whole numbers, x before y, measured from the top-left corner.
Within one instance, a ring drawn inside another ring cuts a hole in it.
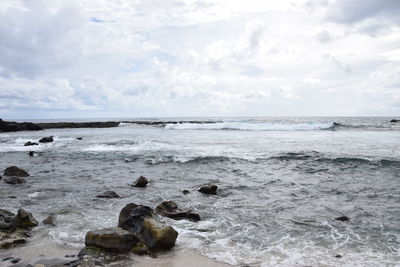
[[[170,250],[178,232],[151,218],[150,207],[130,203],[120,212],[118,227],[134,233],[150,251]]]

